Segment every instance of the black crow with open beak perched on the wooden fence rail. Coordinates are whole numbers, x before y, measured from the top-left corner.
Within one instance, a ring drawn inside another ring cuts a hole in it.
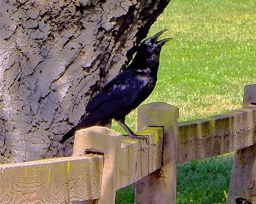
[[[136,135],[125,124],[125,116],[136,109],[153,92],[157,82],[161,47],[173,38],[157,40],[163,30],[140,43],[129,66],[118,74],[87,104],[87,115],[83,115],[77,126],[66,133],[61,143],[75,131],[93,125],[106,126],[115,119],[131,138],[145,139]]]

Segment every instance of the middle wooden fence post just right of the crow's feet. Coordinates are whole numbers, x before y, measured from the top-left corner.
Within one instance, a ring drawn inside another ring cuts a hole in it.
[[[177,182],[178,108],[167,103],[150,103],[138,109],[138,130],[164,126],[163,165],[136,182],[136,203],[175,203]]]

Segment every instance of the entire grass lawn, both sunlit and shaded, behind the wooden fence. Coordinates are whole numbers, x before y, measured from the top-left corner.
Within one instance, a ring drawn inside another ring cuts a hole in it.
[[[149,36],[174,37],[161,52],[157,86],[144,102],[179,107],[179,121],[241,107],[244,86],[256,83],[255,1],[171,1]],[[136,129],[137,112],[126,117]],[[116,124],[113,128],[123,130]],[[177,203],[225,203],[232,154],[178,165]],[[117,203],[133,203],[133,186]]]

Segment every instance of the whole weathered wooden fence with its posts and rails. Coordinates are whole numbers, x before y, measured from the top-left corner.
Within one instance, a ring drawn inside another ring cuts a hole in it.
[[[117,189],[136,182],[136,203],[175,203],[176,164],[235,153],[228,202],[256,203],[256,85],[243,107],[178,123],[178,108],[150,103],[138,109],[138,134],[123,138],[92,127],[76,132],[72,157],[0,165],[0,202],[114,203]]]

